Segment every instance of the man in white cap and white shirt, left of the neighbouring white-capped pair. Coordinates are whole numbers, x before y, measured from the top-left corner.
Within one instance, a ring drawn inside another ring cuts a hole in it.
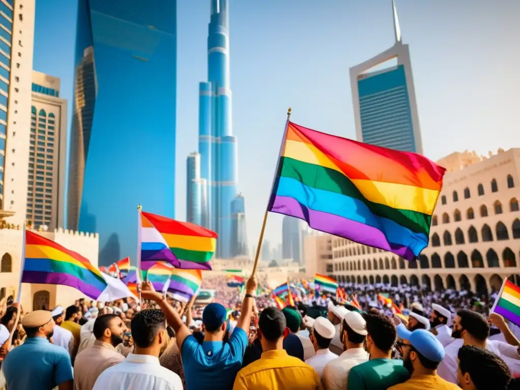
[[[330,352],[329,346],[332,337],[336,334],[336,329],[332,322],[327,318],[318,317],[314,321],[313,329],[310,332],[309,339],[313,343],[316,355],[305,360],[305,362],[313,367],[321,379],[323,368],[329,361],[336,359],[337,355]]]

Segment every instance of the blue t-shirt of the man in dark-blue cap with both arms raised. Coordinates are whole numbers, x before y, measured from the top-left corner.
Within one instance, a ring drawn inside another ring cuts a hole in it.
[[[229,341],[201,344],[193,335],[186,337],[181,348],[187,390],[229,390],[242,368],[248,334],[235,328]]]

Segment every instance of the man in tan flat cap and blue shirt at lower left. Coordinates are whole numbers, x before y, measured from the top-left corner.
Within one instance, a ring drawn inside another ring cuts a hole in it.
[[[9,352],[2,363],[6,388],[16,390],[72,390],[72,366],[67,350],[49,343],[53,335],[53,315],[35,310],[23,316],[27,334],[24,343]]]

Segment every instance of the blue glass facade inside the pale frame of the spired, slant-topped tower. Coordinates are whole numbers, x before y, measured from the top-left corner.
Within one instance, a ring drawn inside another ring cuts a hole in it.
[[[359,76],[358,93],[363,142],[417,152],[404,66]]]

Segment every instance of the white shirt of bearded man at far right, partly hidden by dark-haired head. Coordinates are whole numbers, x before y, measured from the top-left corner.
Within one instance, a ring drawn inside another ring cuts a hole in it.
[[[437,375],[448,382],[457,384],[458,353],[460,347],[464,344],[462,339],[456,339],[445,348],[445,356],[437,368]],[[517,347],[501,341],[487,340],[486,349],[489,352],[500,357],[506,365],[508,365],[511,374],[518,376],[520,374],[520,355],[518,355]]]

